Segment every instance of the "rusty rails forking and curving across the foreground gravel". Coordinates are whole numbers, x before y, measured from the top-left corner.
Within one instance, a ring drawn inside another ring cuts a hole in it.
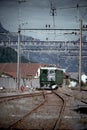
[[[59,112],[58,112],[59,113],[58,119],[56,119],[55,125],[52,127],[52,130],[59,130],[59,126],[61,124],[63,112],[64,112],[64,109],[65,109],[65,100],[56,91],[50,91],[50,93],[47,93],[47,91],[44,91],[44,90],[42,92],[40,92],[40,93],[37,93],[37,94],[35,93],[35,94],[30,94],[30,95],[29,94],[16,95],[17,97],[11,96],[11,99],[8,99],[8,101],[9,101],[9,100],[14,100],[14,99],[18,99],[18,98],[27,98],[27,97],[34,97],[34,96],[40,96],[40,95],[42,95],[44,100],[42,102],[38,103],[38,105],[35,106],[35,108],[33,108],[31,111],[27,112],[23,117],[21,117],[16,122],[14,122],[10,126],[8,126],[7,130],[16,129],[16,127],[17,127],[18,124],[20,124],[21,122],[23,122],[24,119],[26,119],[28,116],[30,116],[35,111],[37,111],[38,109],[40,109],[40,107],[43,106],[44,103],[47,101],[46,95],[52,94],[52,93],[54,95],[56,95],[58,98],[60,98],[61,99],[60,101],[62,101],[62,106],[61,106],[61,108],[59,109]],[[12,98],[14,98],[14,99],[12,99]]]

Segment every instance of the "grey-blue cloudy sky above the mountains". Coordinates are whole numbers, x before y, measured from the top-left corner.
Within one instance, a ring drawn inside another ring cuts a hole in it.
[[[55,9],[53,22],[52,10]],[[0,22],[10,32],[21,28],[80,28],[80,19],[87,25],[87,0],[0,0]],[[54,23],[54,24],[53,24]],[[55,26],[54,26],[55,25]],[[40,40],[79,38],[72,31],[21,31]],[[67,35],[66,35],[67,34]],[[86,35],[86,32],[83,34]]]

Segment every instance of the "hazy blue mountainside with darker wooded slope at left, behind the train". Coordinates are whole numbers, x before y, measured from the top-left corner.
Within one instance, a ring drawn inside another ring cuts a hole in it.
[[[5,33],[5,35],[3,33]],[[0,63],[6,62],[17,62],[17,34],[8,32],[0,24],[0,43],[4,43],[0,47]],[[8,36],[7,36],[8,35]],[[12,42],[11,48],[6,47],[6,43],[10,38]],[[22,39],[22,36],[21,36]],[[21,48],[23,51],[21,62],[33,62],[33,63],[45,63],[45,64],[56,64],[62,68],[65,68],[68,72],[78,72],[79,65],[79,44],[80,39],[77,41],[40,41],[30,36],[24,36],[24,42]],[[31,41],[31,42],[30,42]],[[87,73],[87,38],[82,37],[82,72]],[[32,44],[31,44],[32,43]],[[54,44],[55,43],[55,44]],[[64,44],[66,43],[66,44]],[[72,45],[71,45],[72,43]],[[45,51],[44,51],[45,50]],[[53,51],[54,50],[54,51]]]

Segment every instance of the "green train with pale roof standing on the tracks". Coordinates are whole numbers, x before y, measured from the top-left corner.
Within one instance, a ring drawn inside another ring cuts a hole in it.
[[[40,88],[57,89],[62,86],[64,79],[64,70],[57,67],[40,68]]]

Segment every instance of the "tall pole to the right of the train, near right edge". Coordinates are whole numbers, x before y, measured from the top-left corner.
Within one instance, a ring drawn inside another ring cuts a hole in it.
[[[79,90],[81,91],[81,69],[82,69],[82,20],[80,20],[80,47],[79,47]]]

